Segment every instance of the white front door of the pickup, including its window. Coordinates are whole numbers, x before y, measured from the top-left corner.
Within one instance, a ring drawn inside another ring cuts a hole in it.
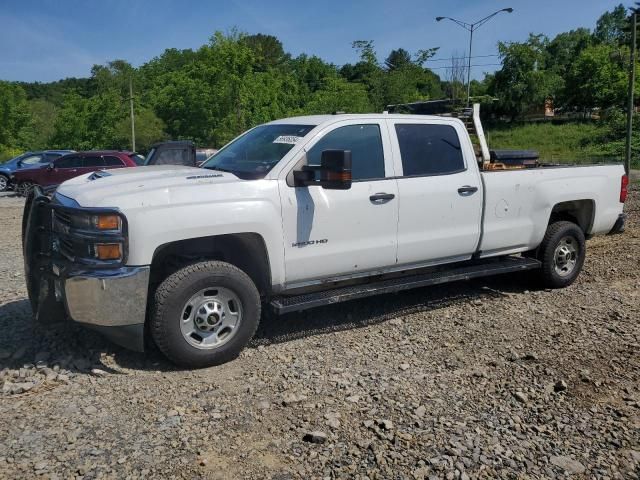
[[[332,149],[351,151],[351,189],[293,187],[287,171],[280,180],[287,287],[396,262],[398,191],[386,122],[328,126],[305,146],[306,163],[319,165],[322,151]]]

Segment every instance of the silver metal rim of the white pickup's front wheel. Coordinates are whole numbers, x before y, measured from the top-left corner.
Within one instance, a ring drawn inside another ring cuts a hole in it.
[[[189,345],[202,350],[220,348],[238,331],[242,303],[228,288],[207,287],[182,307],[180,330]]]

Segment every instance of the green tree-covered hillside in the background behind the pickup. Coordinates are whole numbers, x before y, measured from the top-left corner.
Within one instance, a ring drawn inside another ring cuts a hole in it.
[[[472,82],[472,95],[485,102],[483,111],[494,121],[494,138],[504,139],[501,132],[551,100],[558,112],[577,118],[598,112],[588,137],[579,140],[585,151],[621,154],[627,25],[620,5],[603,13],[593,30],[500,43],[501,68]],[[455,58],[449,70],[440,70],[447,72],[442,77],[429,68],[437,46],[397,48],[386,57],[373,41],[354,41],[352,47],[359,61],[337,66],[316,56],[293,57],[271,35],[215,33],[196,50],[168,49],[138,68],[114,60],[95,65],[89,78],[0,81],[0,159],[28,149],[130,148],[130,80],[141,151],[163,139],[220,147],[275,118],[379,112],[389,104],[459,98],[464,91]],[[640,152],[640,137],[634,149]]]

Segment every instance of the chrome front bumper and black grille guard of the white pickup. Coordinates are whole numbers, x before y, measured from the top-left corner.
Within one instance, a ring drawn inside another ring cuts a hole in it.
[[[114,343],[143,351],[150,268],[89,268],[69,261],[56,247],[52,228],[56,208],[40,189],[25,203],[23,254],[34,315],[46,321],[47,310],[62,304],[73,321]]]

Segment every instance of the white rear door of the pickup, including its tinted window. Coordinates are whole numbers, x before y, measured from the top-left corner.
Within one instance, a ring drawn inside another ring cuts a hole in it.
[[[473,146],[458,122],[389,120],[398,177],[398,263],[466,260],[482,220]],[[460,139],[463,141],[461,142]]]

